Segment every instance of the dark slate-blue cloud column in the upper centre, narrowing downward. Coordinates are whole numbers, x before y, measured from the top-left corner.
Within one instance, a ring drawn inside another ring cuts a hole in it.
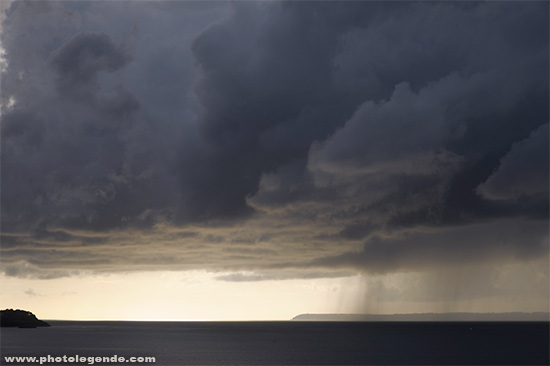
[[[245,210],[262,173],[305,157],[349,113],[330,80],[338,33],[309,10],[237,3],[231,19],[195,40],[200,130],[212,150],[191,174],[182,170],[192,189],[187,205],[199,214]]]

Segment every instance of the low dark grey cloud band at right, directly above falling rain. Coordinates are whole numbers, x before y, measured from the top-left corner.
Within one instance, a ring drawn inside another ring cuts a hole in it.
[[[362,251],[320,259],[316,264],[351,265],[384,273],[503,259],[534,260],[547,256],[548,249],[547,222],[503,220],[445,230],[419,229],[385,238],[372,236]]]

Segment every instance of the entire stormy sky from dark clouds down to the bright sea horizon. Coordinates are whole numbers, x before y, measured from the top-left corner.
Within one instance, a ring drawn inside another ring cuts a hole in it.
[[[1,5],[0,307],[548,311],[548,2]]]

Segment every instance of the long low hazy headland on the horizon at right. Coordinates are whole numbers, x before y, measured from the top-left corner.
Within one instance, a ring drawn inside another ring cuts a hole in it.
[[[297,321],[549,321],[550,314],[535,313],[414,313],[414,314],[300,314]]]

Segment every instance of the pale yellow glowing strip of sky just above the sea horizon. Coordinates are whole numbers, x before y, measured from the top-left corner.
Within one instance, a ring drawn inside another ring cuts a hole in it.
[[[205,271],[87,274],[47,280],[2,275],[0,307],[29,310],[42,319],[139,321],[290,320],[305,313],[546,312],[544,293],[538,300],[518,296],[503,301],[526,291],[509,278],[544,276],[545,265],[539,261],[529,268],[470,268],[470,274],[453,269],[440,272],[439,283],[427,285],[430,276],[422,273],[240,282],[220,280],[229,273]],[[445,284],[460,276],[500,278],[491,284],[499,288],[500,295],[474,296],[488,285],[484,284],[453,289],[466,299],[449,297]]]

